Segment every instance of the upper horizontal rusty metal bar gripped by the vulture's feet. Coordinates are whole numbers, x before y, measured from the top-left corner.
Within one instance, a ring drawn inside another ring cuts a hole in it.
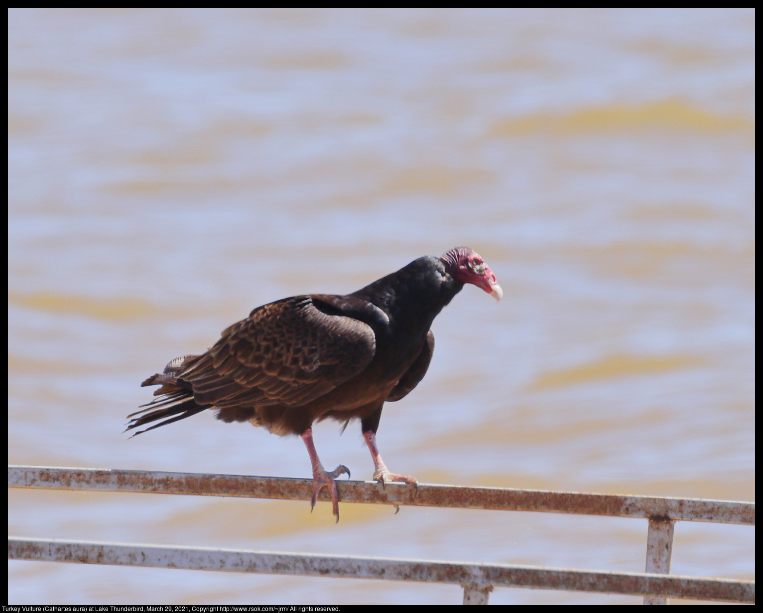
[[[285,500],[309,500],[312,495],[311,479],[108,468],[8,466],[8,486]],[[386,488],[383,488],[375,481],[345,480],[337,480],[336,489],[341,502],[640,518],[658,516],[689,522],[755,524],[754,502],[447,486],[432,483],[420,483],[418,491],[414,492],[412,487],[404,483],[388,483]],[[319,499],[329,499],[326,489]]]

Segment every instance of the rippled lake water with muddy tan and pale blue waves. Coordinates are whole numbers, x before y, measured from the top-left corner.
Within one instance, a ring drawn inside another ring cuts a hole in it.
[[[9,461],[310,477],[211,412],[128,440],[140,381],[262,303],[457,245],[385,408],[420,481],[752,500],[752,9],[11,8]],[[315,428],[369,479],[357,425]],[[10,491],[37,538],[639,572],[645,520]],[[679,522],[672,572],[752,576]],[[11,604],[456,604],[458,586],[10,563]],[[639,604],[496,589],[493,604]],[[678,604],[678,602],[676,602]]]

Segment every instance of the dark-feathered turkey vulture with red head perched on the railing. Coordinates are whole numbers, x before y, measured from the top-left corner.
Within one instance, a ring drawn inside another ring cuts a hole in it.
[[[312,424],[360,419],[382,484],[417,480],[391,473],[376,448],[385,402],[400,400],[427,373],[437,313],[471,283],[501,300],[503,292],[481,256],[456,247],[443,257],[418,258],[346,296],[308,294],[258,307],[226,329],[214,347],[184,355],[143,383],[160,385],[153,402],[129,417],[127,430],[166,419],[135,434],[216,409],[224,422],[250,422],[277,435],[300,435],[313,465],[313,497],[327,486],[339,521],[334,479],[313,444]],[[140,417],[134,417],[140,415]],[[127,432],[127,430],[125,432]]]

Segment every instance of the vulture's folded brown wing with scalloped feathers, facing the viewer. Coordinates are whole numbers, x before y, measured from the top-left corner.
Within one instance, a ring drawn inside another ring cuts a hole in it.
[[[309,403],[362,371],[376,349],[371,326],[324,311],[310,296],[259,307],[177,378],[204,406]]]

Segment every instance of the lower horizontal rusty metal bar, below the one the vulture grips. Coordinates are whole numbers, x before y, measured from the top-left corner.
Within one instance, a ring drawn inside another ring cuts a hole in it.
[[[8,538],[8,557],[85,564],[126,564],[237,573],[330,576],[388,581],[475,584],[482,586],[562,589],[574,592],[655,595],[663,598],[755,602],[755,582],[739,579],[608,573],[604,571],[395,560],[381,557],[284,554],[272,551],[164,547],[160,545],[47,541]]]

